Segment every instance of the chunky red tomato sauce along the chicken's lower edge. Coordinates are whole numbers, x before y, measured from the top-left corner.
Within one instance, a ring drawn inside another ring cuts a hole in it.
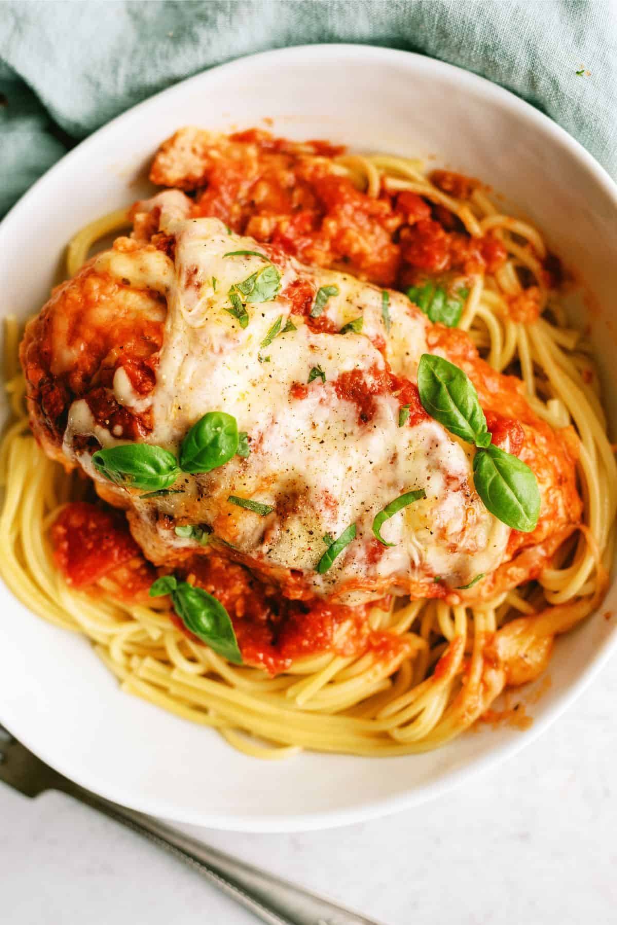
[[[115,597],[147,601],[157,573],[130,535],[123,512],[73,501],[59,513],[51,537],[56,566],[68,585],[99,593],[96,584],[106,578],[117,586]],[[375,649],[386,658],[401,649],[398,637],[371,631],[368,606],[282,598],[278,588],[216,552],[182,562],[176,575],[221,602],[233,623],[242,660],[271,674],[318,653],[351,656]],[[171,614],[171,620],[194,641],[201,641],[176,614]]]

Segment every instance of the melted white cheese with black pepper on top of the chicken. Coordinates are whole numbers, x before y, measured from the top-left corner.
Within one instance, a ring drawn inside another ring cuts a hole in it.
[[[494,569],[510,531],[475,494],[473,450],[430,419],[399,426],[399,401],[393,395],[377,394],[375,413],[365,422],[359,420],[357,405],[337,394],[334,382],[341,374],[358,370],[370,382],[385,368],[373,342],[383,343],[385,334],[381,290],[287,258],[278,265],[279,291],[299,276],[311,280],[315,290],[336,285],[339,295],[328,300],[327,318],[340,328],[362,315],[363,330],[319,332],[294,315],[295,329],[262,347],[278,319],[280,331],[285,327],[289,303],[277,297],[247,304],[250,320],[245,328],[226,311],[231,287],[265,265],[260,256],[228,253],[261,253],[260,245],[228,235],[216,219],[182,219],[178,210],[166,215],[164,208],[161,227],[175,237],[175,265],[152,250],[99,258],[112,274],[167,294],[155,388],[151,395],[138,397],[118,370],[117,401],[131,410],[150,408],[154,429],[149,442],[174,452],[204,413],[233,414],[239,430],[249,435],[251,453],[209,474],[182,476],[183,494],[131,498],[143,523],[153,529],[154,508],[183,523],[209,524],[218,538],[253,561],[300,569],[315,593],[342,594],[348,601],[380,597],[389,590],[404,592],[413,581],[434,575],[450,586],[463,586]],[[395,373],[414,378],[426,352],[426,318],[395,292],[389,293],[389,313],[388,363]],[[314,366],[324,370],[326,383],[316,378],[308,384]],[[305,387],[300,395],[294,388],[298,384]],[[71,409],[72,433],[87,432],[93,425],[77,407],[82,403]],[[104,446],[118,442],[101,427],[95,436]],[[67,450],[69,443],[67,439]],[[98,477],[86,459],[80,457],[80,462]],[[394,545],[377,547],[372,533],[376,514],[416,488],[425,489],[426,499],[390,518],[382,535]],[[231,505],[229,495],[275,511],[262,517]],[[322,537],[339,536],[350,524],[357,527],[355,540],[327,573],[316,573],[326,550]],[[168,527],[158,529],[167,543],[191,545]]]

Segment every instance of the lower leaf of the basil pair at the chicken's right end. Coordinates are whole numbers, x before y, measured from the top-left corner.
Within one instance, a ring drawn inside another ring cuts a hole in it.
[[[512,530],[531,533],[540,512],[536,475],[512,453],[489,446],[474,457],[474,485],[485,507]]]

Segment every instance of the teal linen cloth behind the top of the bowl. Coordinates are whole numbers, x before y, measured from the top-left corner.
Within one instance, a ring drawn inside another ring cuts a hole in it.
[[[389,45],[475,71],[617,176],[615,0],[6,0],[0,216],[72,144],[152,93],[234,57],[317,42]]]

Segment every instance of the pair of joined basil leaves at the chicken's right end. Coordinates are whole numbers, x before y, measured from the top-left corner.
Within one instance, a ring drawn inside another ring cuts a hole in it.
[[[487,420],[469,377],[447,360],[424,353],[418,364],[418,391],[427,413],[478,448],[474,485],[487,511],[513,530],[535,530],[540,512],[536,475],[517,456],[491,445]]]

